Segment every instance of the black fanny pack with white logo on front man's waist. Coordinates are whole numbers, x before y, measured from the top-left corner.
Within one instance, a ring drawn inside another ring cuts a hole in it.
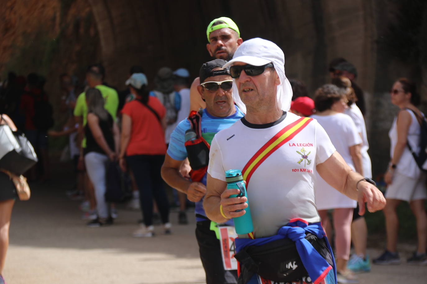
[[[322,255],[328,264],[333,265],[332,255],[324,238],[307,233],[305,239]],[[271,241],[261,246],[244,247],[234,257],[240,263],[237,284],[246,284],[254,275],[276,282],[292,282],[307,276],[295,242],[289,238]]]

